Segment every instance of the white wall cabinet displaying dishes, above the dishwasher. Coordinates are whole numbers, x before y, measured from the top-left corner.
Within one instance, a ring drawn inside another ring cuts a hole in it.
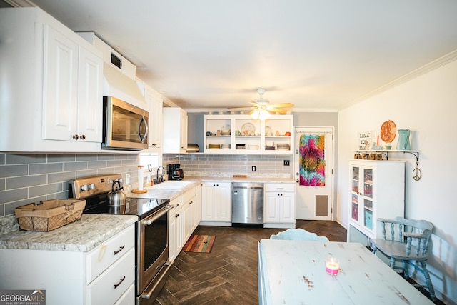
[[[265,121],[246,114],[208,114],[204,152],[211,154],[292,154],[292,115]]]

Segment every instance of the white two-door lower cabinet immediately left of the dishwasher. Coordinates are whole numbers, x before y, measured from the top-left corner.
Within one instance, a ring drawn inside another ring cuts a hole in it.
[[[231,226],[231,182],[201,184],[200,224]]]

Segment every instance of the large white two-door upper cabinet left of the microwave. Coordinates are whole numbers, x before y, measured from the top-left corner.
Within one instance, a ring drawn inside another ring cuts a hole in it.
[[[101,53],[39,8],[0,9],[0,151],[101,151]]]

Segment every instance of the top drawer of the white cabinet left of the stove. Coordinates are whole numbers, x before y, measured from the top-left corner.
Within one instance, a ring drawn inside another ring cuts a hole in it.
[[[120,259],[129,249],[135,245],[135,227],[132,224],[119,234],[111,237],[103,244],[89,251],[86,256],[86,284],[101,274],[106,268],[111,266],[114,261]]]

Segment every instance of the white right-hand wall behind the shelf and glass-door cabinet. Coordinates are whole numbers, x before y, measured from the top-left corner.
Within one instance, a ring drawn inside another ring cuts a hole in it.
[[[376,130],[388,119],[411,129],[411,149],[420,151],[422,179],[412,178],[416,159],[395,153],[406,163],[406,218],[434,225],[428,259],[433,286],[447,304],[457,303],[457,61],[395,86],[340,111],[338,117],[338,215],[347,227],[348,161],[361,131]],[[398,139],[398,134],[396,139]],[[395,148],[396,140],[393,142]],[[418,279],[421,281],[421,279]],[[439,296],[439,294],[438,294]]]

